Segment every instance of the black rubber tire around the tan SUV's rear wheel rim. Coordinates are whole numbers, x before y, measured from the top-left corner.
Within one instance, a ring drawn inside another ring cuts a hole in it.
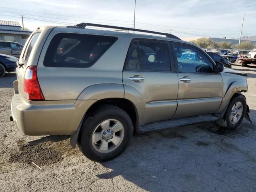
[[[98,124],[108,119],[116,119],[122,123],[124,138],[115,150],[101,153],[93,147],[92,134]],[[78,146],[88,159],[96,162],[105,162],[116,158],[124,152],[132,138],[132,132],[132,120],[124,110],[114,105],[104,105],[85,117],[78,136]]]

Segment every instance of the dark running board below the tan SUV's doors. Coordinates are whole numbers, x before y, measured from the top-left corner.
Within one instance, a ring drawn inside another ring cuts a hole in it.
[[[142,126],[138,126],[137,131],[138,132],[156,131],[156,130],[162,130],[162,129],[172,128],[172,127],[200,123],[200,122],[216,121],[218,119],[220,119],[219,114],[208,114],[208,115],[178,118],[178,119],[172,119],[167,121],[152,122]]]

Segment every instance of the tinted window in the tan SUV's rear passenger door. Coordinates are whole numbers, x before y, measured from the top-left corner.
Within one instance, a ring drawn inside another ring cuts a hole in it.
[[[128,51],[124,69],[170,71],[168,43],[151,40],[134,41]]]

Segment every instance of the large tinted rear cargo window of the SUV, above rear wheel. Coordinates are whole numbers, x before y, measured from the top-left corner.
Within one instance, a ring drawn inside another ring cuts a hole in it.
[[[76,67],[92,66],[114,44],[117,37],[88,34],[56,34],[46,51],[44,66]]]

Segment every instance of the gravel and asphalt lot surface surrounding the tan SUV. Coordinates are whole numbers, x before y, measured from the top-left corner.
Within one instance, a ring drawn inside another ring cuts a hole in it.
[[[254,120],[235,131],[201,123],[134,135],[128,149],[106,163],[88,160],[69,140],[29,146],[10,122],[12,82],[0,78],[0,191],[256,191],[256,69],[245,93]],[[40,170],[32,164],[42,168]]]

